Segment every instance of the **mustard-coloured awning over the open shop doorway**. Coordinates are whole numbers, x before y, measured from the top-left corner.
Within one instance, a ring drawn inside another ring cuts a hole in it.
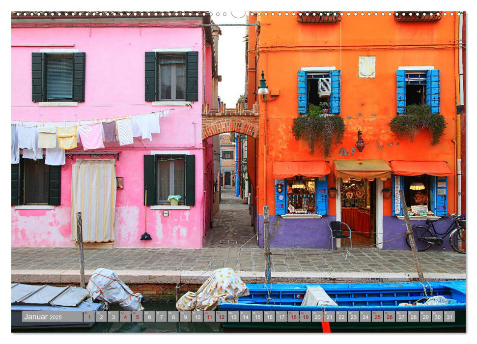
[[[335,174],[337,178],[365,178],[386,180],[391,177],[391,168],[382,159],[340,159],[335,160]]]

